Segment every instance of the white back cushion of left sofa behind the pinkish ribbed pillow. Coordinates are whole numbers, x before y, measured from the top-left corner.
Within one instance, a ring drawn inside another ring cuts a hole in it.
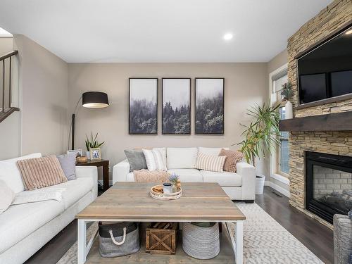
[[[6,182],[7,186],[10,187],[15,192],[15,194],[24,191],[25,186],[23,185],[20,170],[18,170],[17,167],[17,161],[25,160],[27,158],[40,157],[42,157],[42,153],[32,153],[27,156],[0,161],[0,180]]]

